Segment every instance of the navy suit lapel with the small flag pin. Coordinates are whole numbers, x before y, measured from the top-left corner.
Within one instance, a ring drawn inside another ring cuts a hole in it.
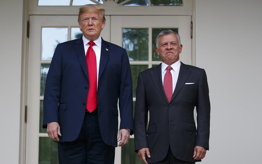
[[[101,43],[101,56],[100,56],[100,63],[99,63],[99,72],[98,72],[98,82],[99,79],[105,69],[105,66],[107,64],[107,59],[109,57],[109,45],[107,44],[107,42],[105,42],[105,40],[103,40],[102,38],[102,43]]]

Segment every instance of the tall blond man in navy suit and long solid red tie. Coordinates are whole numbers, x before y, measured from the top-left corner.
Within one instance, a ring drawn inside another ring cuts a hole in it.
[[[132,77],[126,50],[100,37],[105,10],[79,9],[83,37],[58,44],[46,79],[43,128],[59,163],[113,164],[133,133]],[[120,127],[118,131],[119,100]]]

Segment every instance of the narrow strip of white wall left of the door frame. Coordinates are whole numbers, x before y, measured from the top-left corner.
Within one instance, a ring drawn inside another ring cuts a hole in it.
[[[0,163],[19,159],[23,0],[0,2]]]

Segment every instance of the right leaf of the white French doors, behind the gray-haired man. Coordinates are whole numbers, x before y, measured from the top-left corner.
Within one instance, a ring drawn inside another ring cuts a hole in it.
[[[133,105],[138,73],[161,63],[155,52],[155,38],[164,29],[179,33],[183,44],[180,61],[191,64],[191,16],[111,16],[111,42],[126,49],[133,80]],[[134,152],[134,135],[127,145],[116,149],[117,164],[142,162]]]

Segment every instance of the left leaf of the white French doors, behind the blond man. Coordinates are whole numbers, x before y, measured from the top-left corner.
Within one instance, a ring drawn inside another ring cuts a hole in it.
[[[29,57],[27,86],[26,164],[58,163],[57,144],[49,139],[42,128],[45,78],[56,45],[81,37],[78,16],[29,17]],[[105,40],[110,36],[110,18],[101,32]]]

